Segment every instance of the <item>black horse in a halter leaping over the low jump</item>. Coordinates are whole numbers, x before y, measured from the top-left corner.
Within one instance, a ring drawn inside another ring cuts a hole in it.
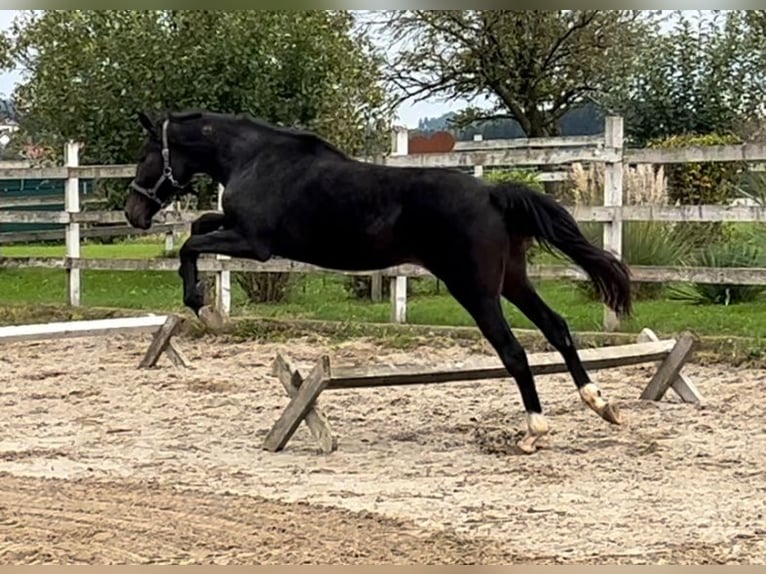
[[[514,378],[527,413],[519,441],[533,452],[548,431],[527,356],[506,322],[501,297],[516,305],[561,353],[581,399],[605,420],[617,410],[583,367],[564,319],[526,273],[534,239],[580,266],[618,315],[631,307],[629,270],[591,243],[553,198],[520,184],[491,185],[445,168],[391,167],[344,154],[319,136],[248,115],[140,113],[147,139],[125,205],[140,229],[193,175],[225,186],[222,213],[192,223],[181,247],[183,300],[198,316],[200,254],[266,261],[273,256],[328,269],[371,271],[413,263],[442,280],[470,313]]]

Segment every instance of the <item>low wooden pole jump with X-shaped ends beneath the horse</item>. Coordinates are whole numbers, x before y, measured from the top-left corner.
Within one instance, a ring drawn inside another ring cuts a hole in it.
[[[676,339],[660,340],[650,329],[644,329],[638,342],[596,349],[582,349],[580,358],[588,370],[655,362],[657,368],[641,399],[658,401],[672,388],[685,402],[701,402],[702,397],[693,383],[681,373],[691,357],[695,339],[689,333]],[[535,375],[567,372],[557,352],[530,353],[529,365]],[[508,372],[499,360],[484,361],[471,366],[445,365],[434,368],[330,368],[330,358],[323,355],[304,379],[287,361],[277,355],[274,374],[279,378],[290,401],[266,435],[263,448],[271,452],[282,450],[300,426],[306,422],[323,453],[337,449],[337,439],[327,418],[320,410],[317,398],[326,389],[355,389],[419,385],[507,378]]]

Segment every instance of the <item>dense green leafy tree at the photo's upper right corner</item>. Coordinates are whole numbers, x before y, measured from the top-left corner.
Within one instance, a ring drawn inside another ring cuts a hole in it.
[[[741,133],[766,95],[766,30],[751,10],[679,17],[655,37],[643,65],[615,78],[606,104],[635,145],[684,134]],[[762,17],[762,16],[761,16]],[[622,81],[621,81],[622,80]]]

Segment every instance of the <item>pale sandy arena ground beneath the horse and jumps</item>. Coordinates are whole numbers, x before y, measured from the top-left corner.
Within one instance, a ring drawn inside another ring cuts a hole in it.
[[[538,377],[548,446],[517,454],[510,379],[330,391],[323,456],[305,425],[261,449],[287,402],[277,352],[334,364],[460,360],[354,341],[148,336],[4,344],[0,563],[763,563],[766,372],[689,365],[701,407],[637,399],[652,366],[594,373],[613,427],[568,375]],[[477,387],[475,389],[475,387]]]

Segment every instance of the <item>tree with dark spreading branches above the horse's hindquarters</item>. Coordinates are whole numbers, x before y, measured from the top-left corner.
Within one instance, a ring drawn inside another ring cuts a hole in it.
[[[656,18],[641,10],[399,10],[386,26],[399,53],[389,80],[402,99],[485,98],[457,125],[516,120],[527,137],[557,135],[568,110],[639,61]]]

